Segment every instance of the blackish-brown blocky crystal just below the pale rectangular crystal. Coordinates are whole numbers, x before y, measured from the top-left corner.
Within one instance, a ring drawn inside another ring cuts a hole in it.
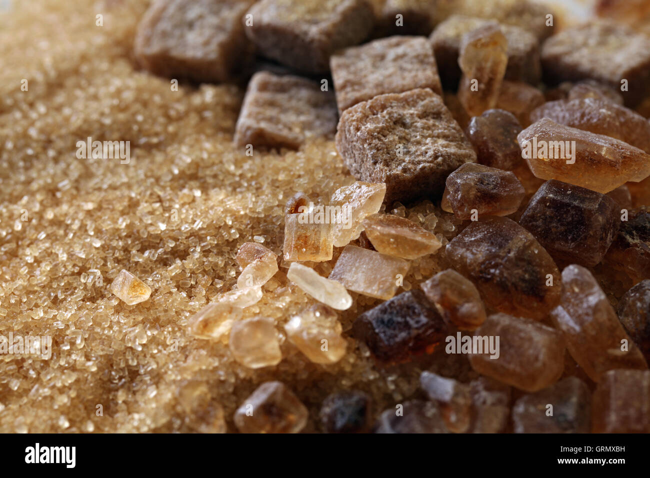
[[[419,289],[403,292],[362,313],[352,326],[380,362],[408,362],[432,352],[447,334],[447,325]]]

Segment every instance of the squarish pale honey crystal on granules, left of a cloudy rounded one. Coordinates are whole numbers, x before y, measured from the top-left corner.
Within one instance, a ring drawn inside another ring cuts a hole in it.
[[[282,360],[278,331],[273,319],[268,317],[233,323],[229,347],[237,362],[252,369],[278,365]]]

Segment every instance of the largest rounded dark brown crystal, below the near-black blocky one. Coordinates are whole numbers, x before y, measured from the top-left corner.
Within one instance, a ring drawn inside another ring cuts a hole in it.
[[[452,267],[476,285],[494,310],[541,320],[560,301],[560,271],[553,259],[511,219],[472,222],[446,252]]]

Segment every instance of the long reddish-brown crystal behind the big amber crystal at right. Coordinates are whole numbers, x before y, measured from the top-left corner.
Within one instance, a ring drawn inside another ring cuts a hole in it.
[[[551,118],[598,135],[606,135],[650,153],[650,122],[629,108],[609,100],[581,98],[549,101],[530,113],[530,121]]]

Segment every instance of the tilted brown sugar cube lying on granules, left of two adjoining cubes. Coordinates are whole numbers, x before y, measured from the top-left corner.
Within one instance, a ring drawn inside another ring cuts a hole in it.
[[[259,72],[248,83],[235,142],[297,149],[309,137],[333,134],[336,121],[334,95],[321,91],[318,83]]]

